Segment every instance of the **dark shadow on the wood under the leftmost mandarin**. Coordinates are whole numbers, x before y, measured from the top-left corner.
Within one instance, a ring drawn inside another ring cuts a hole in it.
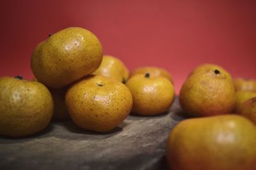
[[[22,142],[30,141],[32,139],[49,138],[51,136],[52,131],[54,131],[54,125],[49,124],[47,127],[45,127],[43,131],[37,132],[36,134],[32,134],[29,136],[24,136],[24,137],[0,136],[0,145],[22,143]]]

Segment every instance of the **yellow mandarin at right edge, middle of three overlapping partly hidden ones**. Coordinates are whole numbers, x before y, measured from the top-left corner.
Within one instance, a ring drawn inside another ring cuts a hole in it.
[[[239,110],[239,107],[247,101],[248,99],[251,99],[252,97],[256,97],[256,92],[251,91],[237,91],[236,92],[236,104],[234,107],[234,112],[237,113]]]

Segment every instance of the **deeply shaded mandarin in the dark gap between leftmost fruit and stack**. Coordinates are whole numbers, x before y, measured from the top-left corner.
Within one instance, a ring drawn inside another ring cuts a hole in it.
[[[63,87],[61,89],[49,89],[52,98],[54,101],[54,113],[53,120],[68,120],[70,119],[68,115],[68,109],[65,104],[65,94],[67,92],[67,87]]]

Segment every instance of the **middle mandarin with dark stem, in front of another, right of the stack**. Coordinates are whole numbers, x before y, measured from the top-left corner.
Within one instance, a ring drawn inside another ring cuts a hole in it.
[[[147,74],[135,74],[125,84],[132,94],[132,113],[159,115],[172,106],[175,97],[173,84],[167,78]]]

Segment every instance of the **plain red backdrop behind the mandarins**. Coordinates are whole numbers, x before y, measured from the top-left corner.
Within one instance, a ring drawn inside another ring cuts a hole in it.
[[[205,62],[256,78],[256,1],[1,1],[0,76],[32,78],[33,48],[49,33],[84,27],[129,67],[168,69],[176,93]]]

